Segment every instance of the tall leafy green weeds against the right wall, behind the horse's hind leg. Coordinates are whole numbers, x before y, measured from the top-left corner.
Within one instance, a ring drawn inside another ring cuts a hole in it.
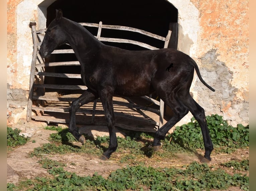
[[[249,125],[238,124],[237,127],[232,127],[218,114],[206,116],[206,120],[214,149],[231,153],[238,148],[249,147]],[[201,128],[194,117],[191,118],[191,122],[177,126],[174,132],[166,138],[182,148],[204,149]]]

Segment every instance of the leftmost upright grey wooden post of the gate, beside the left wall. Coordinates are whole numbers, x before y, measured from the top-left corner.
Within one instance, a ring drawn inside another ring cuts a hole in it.
[[[30,69],[30,82],[29,82],[29,95],[28,95],[28,103],[27,103],[27,121],[31,120],[31,113],[32,113],[32,97],[33,97],[33,86],[35,80],[35,64],[36,64],[36,57],[37,57],[37,35],[36,35],[36,23],[30,22],[29,24],[32,30],[32,37],[33,37],[33,55],[32,55],[32,62],[31,62],[31,69]]]

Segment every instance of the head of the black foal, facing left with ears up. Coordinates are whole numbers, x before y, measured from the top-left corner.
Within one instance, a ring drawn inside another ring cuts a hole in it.
[[[56,17],[45,31],[45,35],[39,49],[39,54],[43,58],[48,57],[58,46],[67,43],[65,31],[63,31],[60,26],[62,18],[62,11],[60,9],[56,9]]]

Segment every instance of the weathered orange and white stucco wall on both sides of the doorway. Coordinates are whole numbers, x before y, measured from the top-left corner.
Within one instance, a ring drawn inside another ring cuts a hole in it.
[[[7,123],[26,118],[32,59],[30,21],[45,27],[54,0],[10,0],[7,5]],[[249,122],[249,2],[168,0],[178,9],[178,49],[193,57],[211,92],[195,80],[191,92],[206,114],[218,113],[232,125]],[[86,21],[85,21],[86,22]],[[188,114],[180,123],[189,121]],[[179,124],[180,124],[179,123]]]

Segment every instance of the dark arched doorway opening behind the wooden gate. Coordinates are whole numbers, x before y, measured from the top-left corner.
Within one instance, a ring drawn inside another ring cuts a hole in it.
[[[138,28],[163,37],[167,35],[167,32],[170,27],[173,26],[173,23],[177,23],[178,17],[178,10],[166,0],[57,0],[47,8],[46,27],[55,18],[55,9],[61,9],[63,11],[64,17],[76,22],[99,23],[102,21],[102,23],[106,25],[121,25]],[[93,29],[90,29],[89,31],[94,35],[97,34],[97,31],[93,31]],[[104,31],[102,31],[102,33],[104,33]],[[111,30],[110,34],[107,34],[107,31],[105,33],[105,36],[109,35],[109,37],[126,39],[127,36],[130,35],[120,31],[113,32],[113,30]],[[171,37],[170,43],[175,41],[172,38],[173,35]],[[146,37],[143,37],[142,39],[139,35],[134,35],[133,39],[131,40],[145,42],[152,46],[163,48],[163,44],[159,44],[159,42],[153,41],[147,42],[150,40]],[[144,48],[138,47],[136,45],[127,45],[122,43],[105,44],[118,46],[128,50],[145,50]],[[177,42],[175,44],[169,44],[169,47],[176,48],[176,44]],[[65,46],[61,48],[63,49]],[[53,55],[50,57],[49,62],[76,60],[77,59],[74,54],[61,56]],[[46,67],[45,71],[47,72],[47,70],[48,69]],[[54,72],[80,74],[80,66],[55,67]],[[52,77],[45,77],[44,79],[45,84],[52,84],[53,82],[59,85],[83,85],[81,79],[63,80],[59,78],[52,79]]]

